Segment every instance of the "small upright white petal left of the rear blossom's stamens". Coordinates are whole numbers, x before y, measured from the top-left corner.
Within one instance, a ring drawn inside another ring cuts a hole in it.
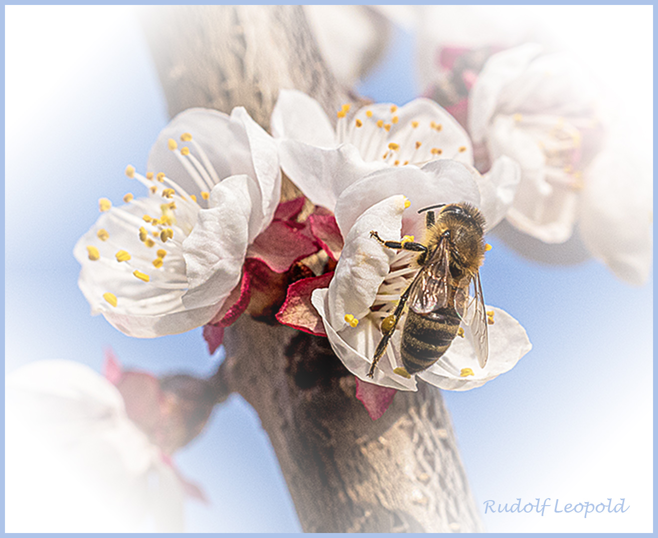
[[[272,111],[272,135],[317,147],[336,147],[336,133],[313,97],[296,89],[282,89]],[[285,170],[285,168],[284,168]]]

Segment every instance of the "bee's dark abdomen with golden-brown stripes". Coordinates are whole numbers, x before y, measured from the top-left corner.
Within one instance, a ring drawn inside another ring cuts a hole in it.
[[[428,314],[409,310],[401,345],[407,372],[415,374],[432,366],[455,339],[460,322],[454,308],[438,308]]]

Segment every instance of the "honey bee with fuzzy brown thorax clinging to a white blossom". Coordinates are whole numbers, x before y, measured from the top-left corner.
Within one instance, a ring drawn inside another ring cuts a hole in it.
[[[440,208],[438,216],[433,211],[436,208]],[[484,216],[468,203],[440,204],[418,213],[425,211],[425,245],[384,241],[377,232],[370,232],[370,237],[385,247],[420,253],[416,260],[420,266],[418,273],[402,293],[393,314],[382,321],[383,336],[372,358],[370,378],[407,303],[400,349],[403,368],[395,368],[396,374],[409,378],[432,366],[455,339],[462,322],[470,326],[480,367],[484,368],[487,362],[487,316],[480,282],[480,266],[486,251]]]

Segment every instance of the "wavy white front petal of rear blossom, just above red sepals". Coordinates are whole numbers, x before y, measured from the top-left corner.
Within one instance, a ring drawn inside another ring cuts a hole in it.
[[[322,149],[296,140],[283,140],[279,157],[286,176],[309,200],[330,210],[351,183],[386,166],[383,162],[364,162],[351,144]]]

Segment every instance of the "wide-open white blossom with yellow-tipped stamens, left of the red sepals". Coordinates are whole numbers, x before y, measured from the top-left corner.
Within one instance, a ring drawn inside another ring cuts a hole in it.
[[[159,135],[147,166],[126,175],[149,189],[110,207],[76,244],[78,284],[118,330],[136,337],[209,322],[240,281],[247,247],[280,195],[273,139],[243,108],[190,109]],[[140,185],[141,188],[141,185]]]

